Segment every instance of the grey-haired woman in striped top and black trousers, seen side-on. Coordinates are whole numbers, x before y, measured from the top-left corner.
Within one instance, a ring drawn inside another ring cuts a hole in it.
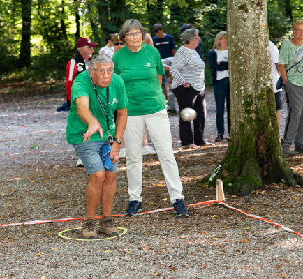
[[[205,63],[196,52],[200,38],[197,29],[187,29],[182,33],[184,45],[177,50],[175,59],[170,68],[172,75],[172,92],[175,94],[179,110],[190,107],[197,112],[191,123],[179,119],[179,130],[181,145],[184,149],[196,146],[205,146],[203,132],[206,116],[204,70]]]

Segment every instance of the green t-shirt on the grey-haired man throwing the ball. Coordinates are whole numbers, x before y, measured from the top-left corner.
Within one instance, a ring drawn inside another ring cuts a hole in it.
[[[95,85],[96,86],[96,85]],[[128,105],[127,94],[124,86],[124,82],[119,77],[119,75],[112,75],[112,82],[110,83],[109,88],[109,103],[107,108],[107,97],[106,97],[106,88],[100,88],[96,86],[98,96],[101,99],[101,103],[106,112],[108,112],[108,117],[110,120],[110,135],[114,137],[116,133],[116,125],[114,123],[114,111],[119,109],[122,110]],[[83,133],[87,131],[88,125],[80,116],[77,115],[77,105],[75,100],[79,97],[86,96],[89,98],[89,110],[91,113],[98,119],[103,130],[103,139],[101,139],[98,132],[91,135],[91,141],[105,141],[108,140],[108,124],[106,123],[106,116],[103,112],[103,109],[98,102],[96,92],[91,80],[89,79],[89,70],[86,70],[77,77],[73,82],[71,88],[71,110],[68,114],[67,119],[67,128],[66,128],[66,139],[69,144],[80,144],[83,142]]]

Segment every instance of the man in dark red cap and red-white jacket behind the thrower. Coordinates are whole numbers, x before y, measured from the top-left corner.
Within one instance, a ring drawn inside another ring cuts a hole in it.
[[[98,47],[98,44],[92,43],[89,38],[80,37],[77,39],[77,53],[71,59],[66,66],[66,100],[67,102],[57,108],[57,111],[68,111],[71,107],[71,86],[75,80],[76,75],[84,72],[88,67],[89,59],[94,52],[94,47]],[[76,164],[77,167],[82,167],[83,163],[79,160]]]

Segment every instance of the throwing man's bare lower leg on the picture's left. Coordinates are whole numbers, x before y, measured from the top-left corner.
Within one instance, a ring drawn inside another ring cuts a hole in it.
[[[89,183],[85,190],[85,198],[87,199],[87,219],[94,219],[96,217],[96,210],[101,200],[104,180],[105,171],[89,175]]]

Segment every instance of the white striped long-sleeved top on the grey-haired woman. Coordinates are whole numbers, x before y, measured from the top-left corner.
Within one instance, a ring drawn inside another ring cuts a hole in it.
[[[204,90],[204,70],[205,63],[198,52],[182,45],[177,50],[170,67],[170,74],[173,77],[172,89],[188,82],[193,86],[193,89],[197,91]]]

